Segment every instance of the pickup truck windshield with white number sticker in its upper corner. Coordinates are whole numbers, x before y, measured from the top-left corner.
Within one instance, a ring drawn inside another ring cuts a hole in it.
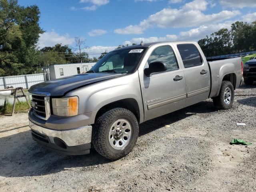
[[[100,59],[88,72],[132,73],[138,66],[146,48],[114,50]]]

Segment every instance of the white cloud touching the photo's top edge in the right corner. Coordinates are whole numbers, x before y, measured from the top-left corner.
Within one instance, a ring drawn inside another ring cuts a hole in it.
[[[224,7],[256,7],[255,0],[220,0],[220,4]]]

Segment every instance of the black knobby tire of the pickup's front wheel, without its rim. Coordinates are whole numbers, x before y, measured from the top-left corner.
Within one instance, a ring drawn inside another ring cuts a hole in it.
[[[112,128],[112,124],[119,119],[127,120],[132,128],[130,142],[122,150],[112,148],[108,140],[108,134]],[[96,120],[92,130],[92,144],[95,150],[102,156],[111,160],[117,160],[126,156],[132,151],[132,148],[136,144],[138,134],[139,125],[134,114],[124,108],[114,108],[102,114],[102,116]]]

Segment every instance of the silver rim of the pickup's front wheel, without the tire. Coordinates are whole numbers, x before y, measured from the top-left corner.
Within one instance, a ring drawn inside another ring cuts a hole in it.
[[[116,150],[123,150],[130,142],[132,126],[126,119],[118,119],[112,124],[108,134],[110,146]]]

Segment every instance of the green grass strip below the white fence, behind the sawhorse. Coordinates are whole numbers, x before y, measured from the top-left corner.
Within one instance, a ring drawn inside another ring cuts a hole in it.
[[[12,105],[13,105],[12,103],[7,103],[5,108],[4,106],[0,106],[0,115],[12,113]],[[30,101],[30,105],[31,105],[31,101]],[[27,102],[16,101],[14,112],[28,112],[29,109],[30,108]]]

